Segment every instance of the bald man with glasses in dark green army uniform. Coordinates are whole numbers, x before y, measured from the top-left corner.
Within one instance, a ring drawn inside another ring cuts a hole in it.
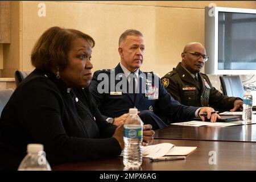
[[[242,110],[241,98],[224,96],[201,73],[206,51],[201,43],[188,43],[181,53],[181,63],[161,78],[164,88],[183,105],[210,106],[221,111]]]

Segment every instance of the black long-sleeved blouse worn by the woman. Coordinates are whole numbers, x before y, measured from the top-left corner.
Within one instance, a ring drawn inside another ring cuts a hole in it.
[[[35,69],[2,111],[0,169],[18,168],[28,143],[42,143],[51,166],[119,155],[116,127],[91,98],[88,88],[67,88],[53,73]]]

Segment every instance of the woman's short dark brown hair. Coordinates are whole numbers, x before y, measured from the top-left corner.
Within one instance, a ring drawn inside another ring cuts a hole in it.
[[[38,39],[31,53],[32,65],[43,71],[67,67],[68,52],[77,38],[83,38],[91,48],[95,42],[92,37],[81,31],[60,27],[51,27]]]

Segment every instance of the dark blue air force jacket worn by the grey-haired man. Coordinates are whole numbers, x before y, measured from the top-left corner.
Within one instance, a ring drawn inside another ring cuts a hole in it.
[[[171,121],[188,121],[195,117],[195,111],[199,107],[184,106],[181,105],[180,102],[174,100],[170,93],[164,89],[160,78],[152,72],[150,73],[153,76],[149,82],[151,82],[152,86],[158,88],[158,99],[149,99],[146,94],[143,93],[143,82],[140,82],[139,93],[137,93],[136,96],[135,94],[125,93],[125,90],[122,90],[122,94],[110,94],[110,88],[115,88],[120,81],[118,79],[125,76],[124,73],[123,76],[120,76],[119,73],[123,73],[120,64],[118,64],[114,69],[102,69],[100,71],[96,71],[93,74],[93,79],[89,87],[90,92],[98,105],[98,109],[100,109],[101,114],[105,115],[106,118],[119,117],[122,114],[128,113],[129,109],[133,107],[136,107],[138,111],[158,110],[160,114],[171,119]],[[139,75],[142,73],[143,72],[139,70]],[[144,74],[147,76],[148,80],[148,73],[144,72]],[[102,84],[103,80],[98,79],[98,77],[102,77],[102,75],[108,79],[105,80],[105,85]],[[125,79],[127,81],[126,77]],[[98,92],[98,85],[100,90],[105,90],[104,93]]]

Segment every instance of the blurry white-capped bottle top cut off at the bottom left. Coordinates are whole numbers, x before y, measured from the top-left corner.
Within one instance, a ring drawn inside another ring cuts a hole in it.
[[[27,155],[19,164],[18,171],[51,171],[42,144],[27,145]]]

